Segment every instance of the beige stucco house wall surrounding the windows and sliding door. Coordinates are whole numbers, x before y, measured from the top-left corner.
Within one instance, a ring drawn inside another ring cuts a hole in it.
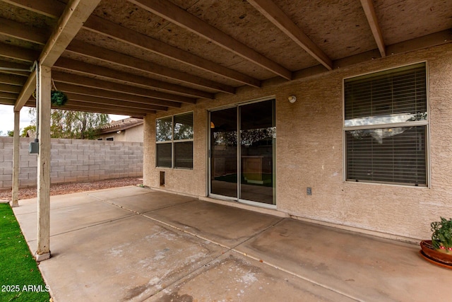
[[[343,180],[343,79],[427,61],[431,182],[429,187]],[[287,97],[297,95],[296,103]],[[145,118],[144,183],[204,197],[207,194],[208,110],[258,98],[276,98],[277,209],[285,213],[391,238],[429,238],[431,221],[452,217],[452,44],[350,66],[308,79],[239,88]],[[155,168],[155,118],[194,110],[194,170]],[[306,194],[312,187],[312,195]]]

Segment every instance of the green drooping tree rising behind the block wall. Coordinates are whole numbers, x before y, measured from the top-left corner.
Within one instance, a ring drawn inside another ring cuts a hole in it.
[[[31,108],[29,114],[36,126],[36,109]],[[52,109],[50,136],[54,139],[96,139],[100,127],[109,121],[109,116],[104,113]]]

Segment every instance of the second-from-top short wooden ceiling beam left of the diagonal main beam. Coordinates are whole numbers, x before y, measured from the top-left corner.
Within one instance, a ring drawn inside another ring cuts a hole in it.
[[[23,23],[0,18],[0,33],[7,37],[14,37],[19,40],[28,41],[40,45],[47,42],[49,34],[40,28],[30,27]]]

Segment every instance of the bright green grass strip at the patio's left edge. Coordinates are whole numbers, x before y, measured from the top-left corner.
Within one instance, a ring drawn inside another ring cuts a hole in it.
[[[49,301],[19,223],[9,204],[0,204],[0,301]]]

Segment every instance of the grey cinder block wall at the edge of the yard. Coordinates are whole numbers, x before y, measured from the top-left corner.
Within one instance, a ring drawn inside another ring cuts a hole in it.
[[[28,153],[33,139],[20,138],[19,186],[37,182],[37,155]],[[143,143],[52,139],[51,183],[141,177]],[[0,190],[11,189],[13,179],[13,138],[0,137]]]

